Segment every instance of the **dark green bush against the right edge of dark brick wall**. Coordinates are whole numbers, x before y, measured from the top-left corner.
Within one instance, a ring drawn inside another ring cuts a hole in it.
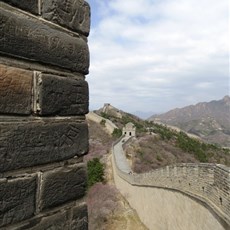
[[[88,188],[97,182],[104,182],[104,165],[99,158],[87,162]]]

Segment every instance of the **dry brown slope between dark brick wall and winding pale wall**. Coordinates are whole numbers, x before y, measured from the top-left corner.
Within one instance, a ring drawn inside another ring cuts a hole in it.
[[[146,230],[135,210],[113,183],[111,146],[115,138],[106,132],[103,124],[89,119],[87,123],[90,147],[84,161],[99,158],[105,166],[105,183],[96,183],[88,190],[89,230]]]

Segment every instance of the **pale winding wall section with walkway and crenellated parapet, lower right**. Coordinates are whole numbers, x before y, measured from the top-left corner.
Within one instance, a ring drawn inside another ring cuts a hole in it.
[[[123,144],[112,148],[115,184],[149,229],[230,229],[230,168],[184,163],[133,174]]]

